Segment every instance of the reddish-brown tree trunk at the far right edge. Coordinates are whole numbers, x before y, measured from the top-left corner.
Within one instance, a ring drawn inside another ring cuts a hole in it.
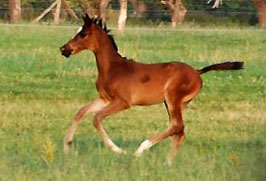
[[[257,9],[259,25],[266,28],[266,0],[252,0]]]

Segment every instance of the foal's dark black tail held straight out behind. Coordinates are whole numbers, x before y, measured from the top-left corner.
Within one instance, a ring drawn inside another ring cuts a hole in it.
[[[209,71],[218,70],[240,70],[243,69],[244,62],[224,62],[219,64],[213,64],[203,69],[198,70],[199,74],[204,74]]]

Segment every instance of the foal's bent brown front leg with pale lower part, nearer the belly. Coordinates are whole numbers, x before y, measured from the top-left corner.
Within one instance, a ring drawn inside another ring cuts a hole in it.
[[[105,145],[107,148],[110,150],[116,152],[116,153],[126,153],[125,150],[119,148],[107,135],[105,132],[103,125],[102,125],[102,120],[109,115],[118,113],[122,110],[128,109],[130,106],[128,104],[125,104],[124,101],[121,100],[114,100],[110,102],[108,106],[106,106],[104,109],[99,111],[95,116],[93,120],[93,125],[97,129],[98,133],[101,135]]]

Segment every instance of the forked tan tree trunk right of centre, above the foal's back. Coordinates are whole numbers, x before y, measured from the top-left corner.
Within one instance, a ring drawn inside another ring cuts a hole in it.
[[[181,0],[163,0],[161,3],[168,7],[168,11],[171,14],[172,27],[183,23],[187,9]]]

